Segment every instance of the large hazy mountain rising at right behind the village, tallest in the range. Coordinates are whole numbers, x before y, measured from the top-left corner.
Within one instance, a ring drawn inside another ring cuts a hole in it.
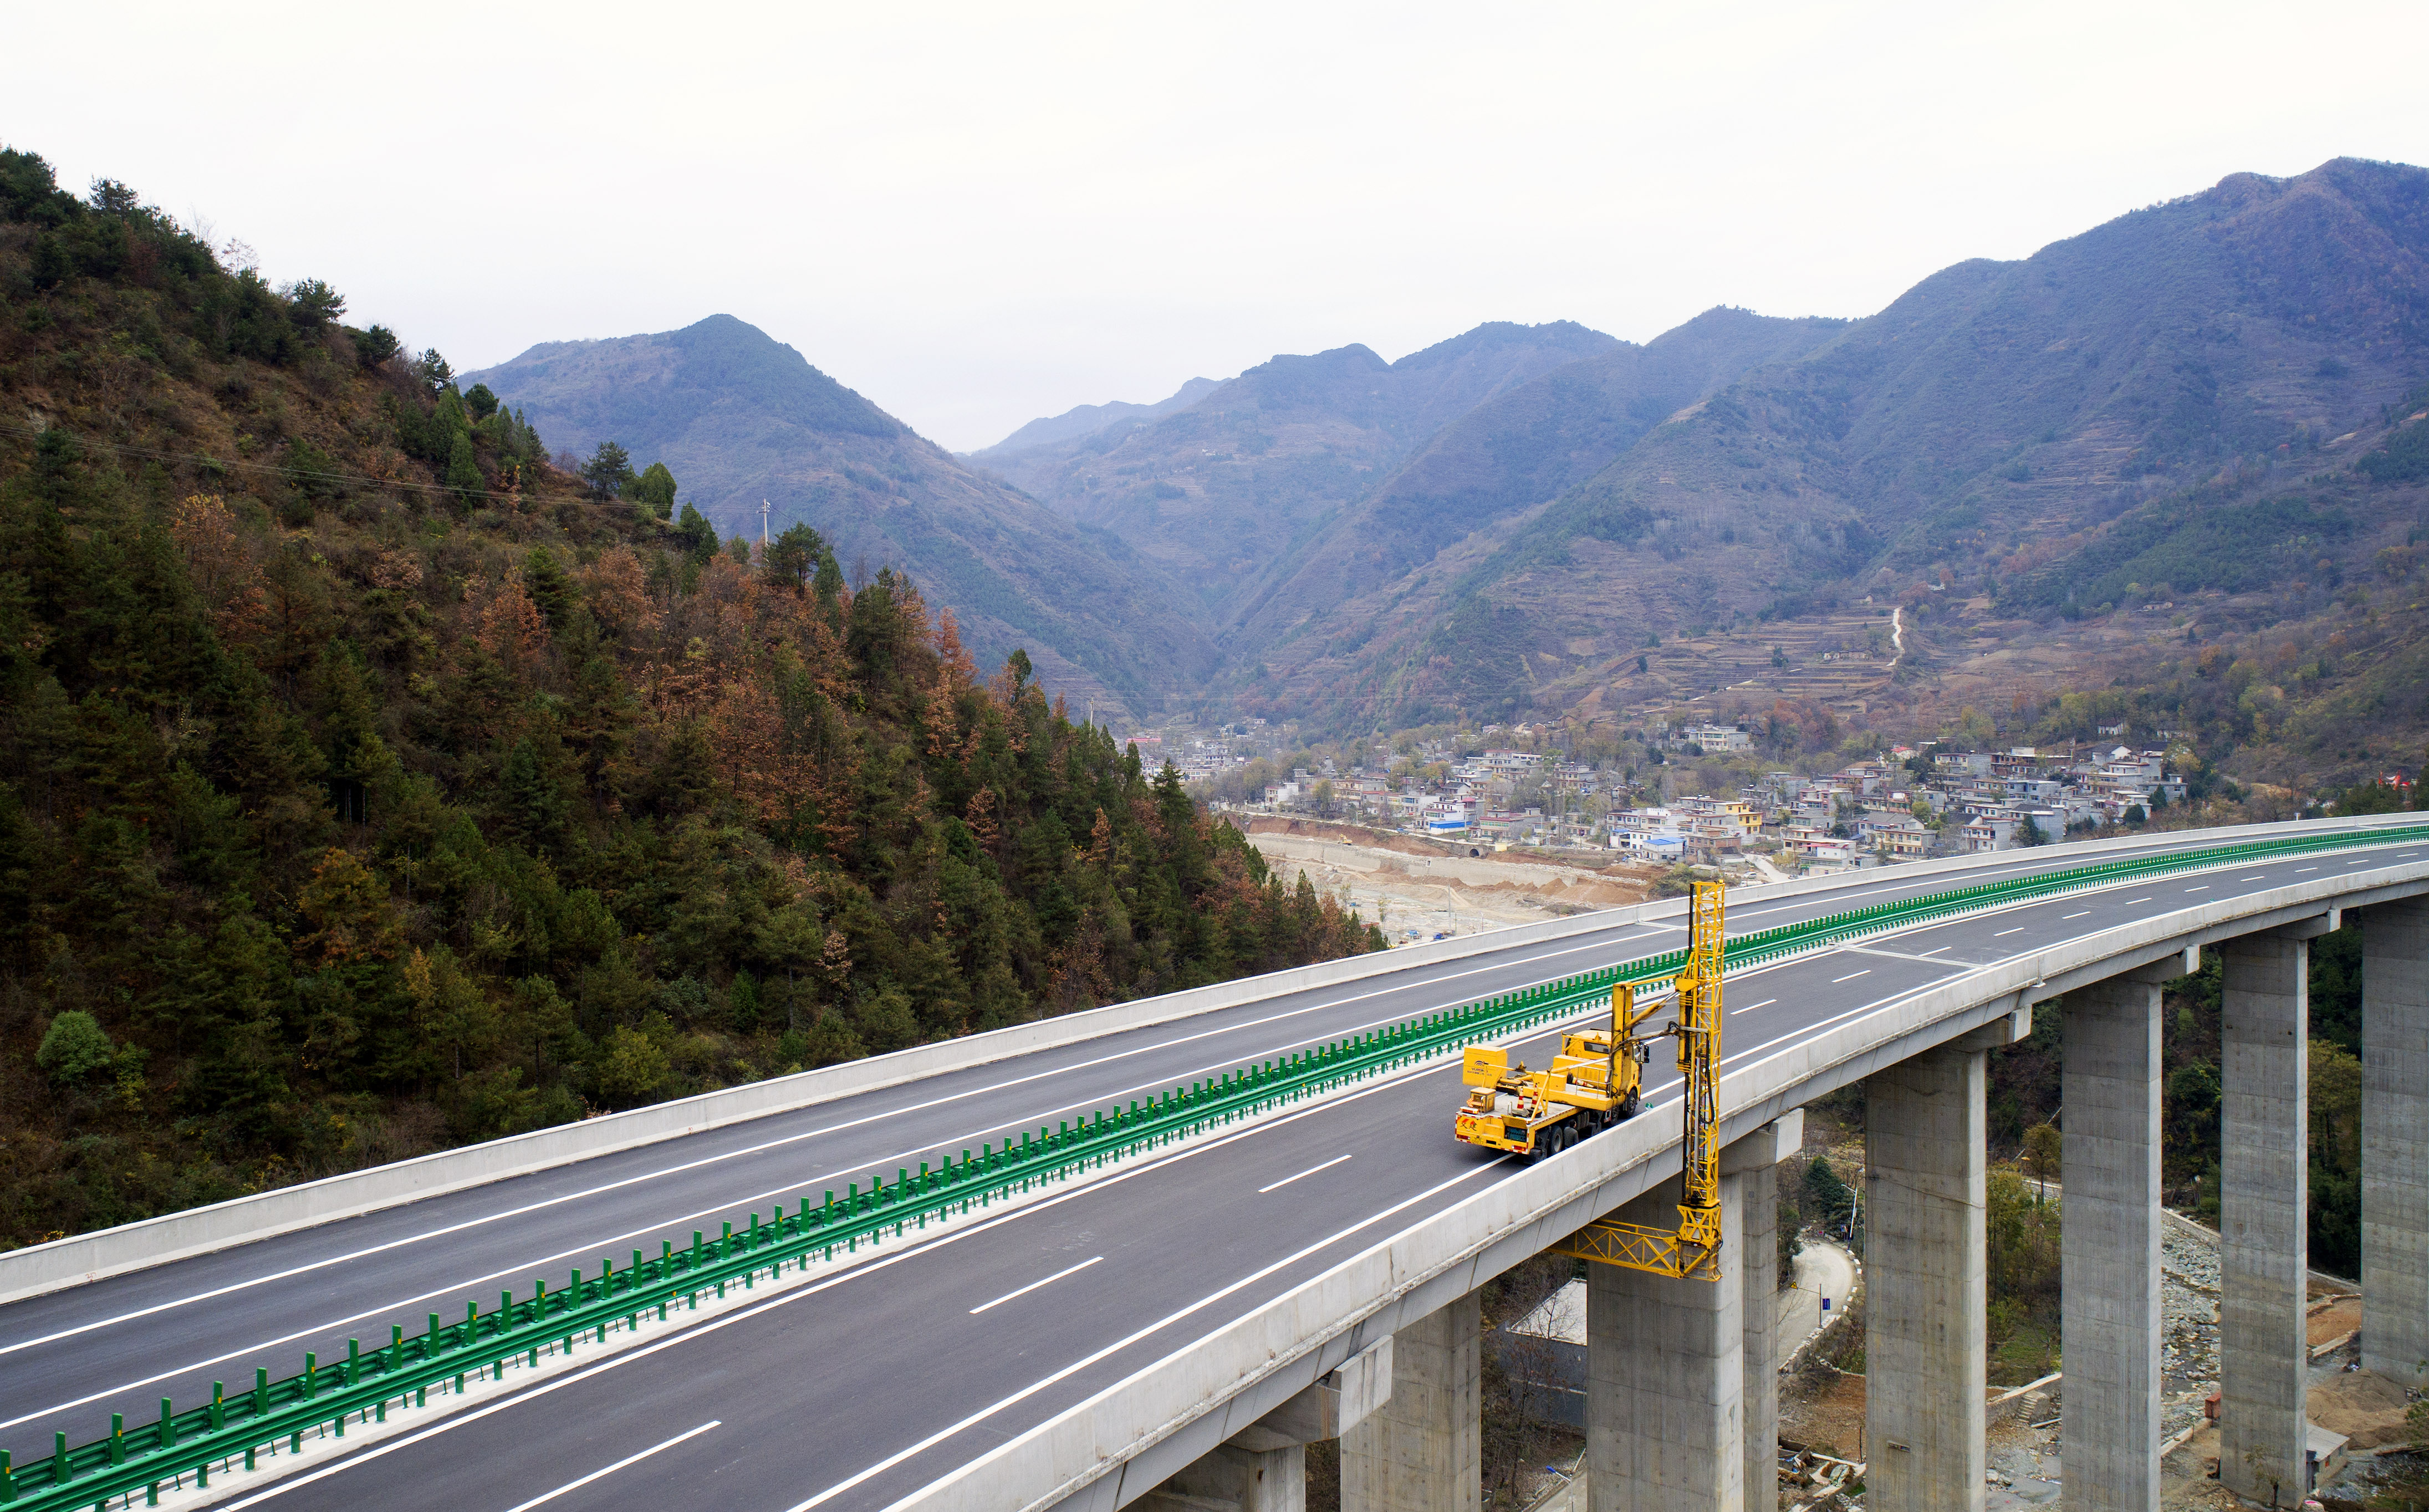
[[[1625,704],[1652,636],[1814,595],[1997,587],[2145,505],[2240,507],[2342,471],[2422,381],[2424,340],[2429,172],[2235,175],[2023,262],[1950,267],[1749,371],[1523,527],[1266,653],[1263,694],[1351,689],[1382,723]],[[2405,544],[2400,495],[2361,502],[2308,582]]]

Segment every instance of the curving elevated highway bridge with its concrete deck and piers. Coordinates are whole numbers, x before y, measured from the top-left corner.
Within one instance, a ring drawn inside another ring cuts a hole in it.
[[[2363,1342],[2429,1374],[2424,891],[2429,825],[2388,815],[1732,893],[1725,1277],[1593,1267],[1596,1505],[1771,1505],[1771,1165],[1795,1109],[1858,1082],[1870,1505],[1980,1505],[1982,1053],[2060,1012],[2067,1505],[2155,1507],[2157,980],[2201,949],[2227,973],[2227,1476],[2291,1493],[2303,942],[2354,910]],[[1659,976],[1681,915],[1227,983],[5,1255],[0,1490],[1246,1510],[1295,1507],[1302,1446],[1341,1437],[1346,1507],[1474,1507],[1477,1289],[1601,1216],[1664,1221],[1681,1121],[1657,1056],[1637,1119],[1494,1158],[1448,1136],[1455,1046],[1540,1063],[1613,973]]]

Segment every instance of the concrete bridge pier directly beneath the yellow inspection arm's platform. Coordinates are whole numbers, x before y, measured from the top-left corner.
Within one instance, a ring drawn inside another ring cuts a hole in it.
[[[1586,1267],[1586,1483],[1593,1512],[1744,1512],[1744,1177],[1720,1180],[1720,1281]],[[1620,1209],[1678,1226],[1678,1182]],[[1739,1243],[1732,1243],[1739,1240]]]

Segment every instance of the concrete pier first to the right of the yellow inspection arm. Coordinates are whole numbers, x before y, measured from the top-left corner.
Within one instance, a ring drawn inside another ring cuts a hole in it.
[[[1982,1507],[1987,1250],[1982,1051],[1924,1051],[1865,1080],[1865,1507]]]

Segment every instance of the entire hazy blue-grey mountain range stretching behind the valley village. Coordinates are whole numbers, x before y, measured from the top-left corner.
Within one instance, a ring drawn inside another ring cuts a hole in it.
[[[2376,444],[2429,376],[2424,257],[2429,172],[2337,160],[1963,262],[1863,320],[1489,323],[964,459],[726,316],[466,381],[551,442],[668,461],[726,529],[768,498],[1139,714],[1375,728],[1625,706],[1659,694],[1654,636],[1926,578],[2065,609],[2128,573],[2104,541],[2179,529],[2145,517],[2220,468]],[[2402,544],[2385,500],[2322,561]]]

